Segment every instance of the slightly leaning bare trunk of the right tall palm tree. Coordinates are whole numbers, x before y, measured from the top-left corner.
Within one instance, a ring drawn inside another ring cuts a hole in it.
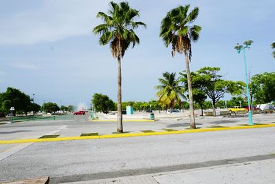
[[[195,123],[195,114],[194,114],[194,105],[193,105],[192,83],[191,83],[191,77],[190,77],[189,57],[188,57],[188,52],[186,50],[184,51],[184,55],[185,55],[186,75],[187,75],[188,93],[189,93],[190,129],[195,129],[196,123]]]

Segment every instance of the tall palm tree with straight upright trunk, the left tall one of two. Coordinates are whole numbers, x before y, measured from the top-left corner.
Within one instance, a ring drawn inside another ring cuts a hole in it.
[[[112,56],[118,60],[118,132],[123,132],[122,127],[122,109],[121,109],[121,59],[124,57],[125,51],[132,45],[140,43],[140,39],[134,30],[140,25],[146,27],[145,23],[135,22],[133,19],[139,17],[139,11],[130,8],[129,3],[110,2],[110,10],[107,14],[98,12],[104,23],[94,28],[94,34],[100,34],[100,45],[109,43]]]

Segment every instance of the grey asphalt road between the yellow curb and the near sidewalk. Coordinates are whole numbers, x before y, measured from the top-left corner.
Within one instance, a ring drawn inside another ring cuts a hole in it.
[[[63,183],[270,159],[274,131],[34,143],[0,161],[0,181],[50,176],[53,183]]]

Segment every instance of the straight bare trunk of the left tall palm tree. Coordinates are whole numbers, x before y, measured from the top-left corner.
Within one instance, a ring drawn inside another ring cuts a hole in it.
[[[121,58],[118,57],[118,128],[117,132],[122,133],[122,112],[121,112]]]

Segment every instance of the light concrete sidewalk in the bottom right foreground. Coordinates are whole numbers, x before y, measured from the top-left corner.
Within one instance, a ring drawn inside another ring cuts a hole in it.
[[[275,159],[233,163],[192,170],[108,178],[67,184],[103,183],[275,183]]]

